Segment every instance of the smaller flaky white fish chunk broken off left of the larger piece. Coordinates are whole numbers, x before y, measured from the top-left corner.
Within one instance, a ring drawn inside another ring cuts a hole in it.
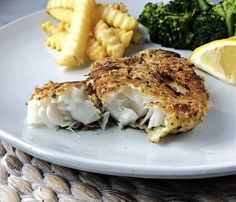
[[[26,122],[49,128],[73,128],[78,123],[88,125],[104,116],[95,105],[96,96],[89,91],[84,81],[50,81],[42,88],[35,88],[28,101]]]

